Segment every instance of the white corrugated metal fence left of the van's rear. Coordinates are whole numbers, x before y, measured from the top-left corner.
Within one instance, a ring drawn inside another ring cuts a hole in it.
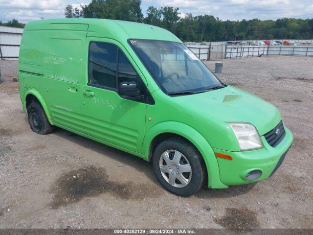
[[[0,26],[0,59],[19,58],[22,28]]]

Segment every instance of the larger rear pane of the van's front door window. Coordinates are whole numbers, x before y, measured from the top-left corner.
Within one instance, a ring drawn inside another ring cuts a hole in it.
[[[89,46],[89,83],[116,89],[117,47],[91,42]]]

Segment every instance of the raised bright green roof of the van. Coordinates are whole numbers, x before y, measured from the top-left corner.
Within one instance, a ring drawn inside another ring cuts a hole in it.
[[[150,39],[181,42],[170,31],[150,25],[105,19],[53,19],[33,21],[24,30],[75,30],[88,31],[87,36],[105,37],[115,40]]]

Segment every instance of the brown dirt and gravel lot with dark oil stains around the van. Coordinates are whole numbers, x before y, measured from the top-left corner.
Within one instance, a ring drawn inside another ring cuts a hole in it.
[[[0,61],[0,228],[313,228],[313,58],[223,63],[218,77],[277,106],[294,142],[269,180],[183,198],[135,156],[62,129],[32,132],[17,62]]]

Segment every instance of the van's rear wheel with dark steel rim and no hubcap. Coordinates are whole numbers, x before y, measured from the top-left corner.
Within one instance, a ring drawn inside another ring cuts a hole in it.
[[[47,135],[54,132],[55,126],[49,123],[40,103],[36,101],[31,102],[27,107],[27,115],[30,128],[33,132],[41,135]]]

